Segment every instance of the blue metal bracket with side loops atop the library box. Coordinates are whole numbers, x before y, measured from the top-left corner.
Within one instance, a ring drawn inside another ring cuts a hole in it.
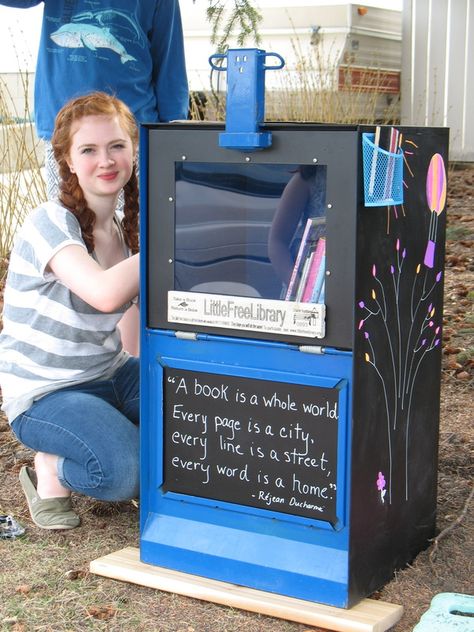
[[[267,66],[267,57],[276,57],[279,63]],[[219,135],[219,146],[242,151],[269,147],[271,132],[260,131],[265,114],[265,70],[283,68],[283,57],[258,48],[240,48],[211,55],[209,63],[214,70],[227,72],[226,131]]]

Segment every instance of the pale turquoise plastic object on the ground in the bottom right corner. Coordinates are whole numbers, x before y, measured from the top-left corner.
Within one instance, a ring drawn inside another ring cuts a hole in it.
[[[473,632],[474,596],[439,593],[413,632]]]

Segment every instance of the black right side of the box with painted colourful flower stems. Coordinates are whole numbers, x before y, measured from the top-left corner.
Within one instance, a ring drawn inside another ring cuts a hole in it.
[[[448,130],[399,129],[404,203],[358,211],[352,600],[435,529]]]

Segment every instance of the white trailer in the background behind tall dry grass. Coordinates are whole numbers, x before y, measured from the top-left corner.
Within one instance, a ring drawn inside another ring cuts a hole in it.
[[[214,53],[203,0],[183,11],[190,87],[225,92],[225,73],[211,75]],[[259,48],[286,66],[266,73],[267,120],[356,122],[399,117],[401,11],[310,0],[262,7]],[[255,47],[255,42],[246,42]],[[231,40],[231,47],[238,47]],[[212,99],[209,100],[212,104]]]

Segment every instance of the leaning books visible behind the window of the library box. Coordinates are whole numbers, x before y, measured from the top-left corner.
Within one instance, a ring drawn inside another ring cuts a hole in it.
[[[285,300],[324,303],[326,276],[325,218],[310,217],[291,273]]]

